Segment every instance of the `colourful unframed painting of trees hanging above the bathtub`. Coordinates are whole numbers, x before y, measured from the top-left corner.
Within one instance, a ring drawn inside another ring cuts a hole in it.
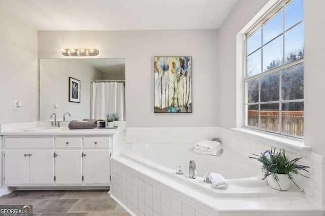
[[[192,112],[192,57],[154,57],[154,112]]]

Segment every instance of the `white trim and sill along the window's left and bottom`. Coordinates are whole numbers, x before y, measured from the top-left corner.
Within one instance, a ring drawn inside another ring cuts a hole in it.
[[[286,137],[283,135],[273,135],[264,131],[257,131],[245,127],[244,116],[244,77],[245,77],[245,33],[251,28],[251,26],[263,17],[279,0],[270,0],[236,35],[236,128],[232,130],[236,133],[246,135],[259,142],[266,143],[268,145],[274,145],[280,148],[290,149],[292,152],[307,155],[311,151],[310,146],[306,146],[303,139],[295,139]]]

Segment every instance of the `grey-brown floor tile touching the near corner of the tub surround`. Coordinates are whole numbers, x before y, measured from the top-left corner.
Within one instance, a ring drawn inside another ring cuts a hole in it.
[[[113,211],[116,205],[112,198],[79,199],[69,212]]]

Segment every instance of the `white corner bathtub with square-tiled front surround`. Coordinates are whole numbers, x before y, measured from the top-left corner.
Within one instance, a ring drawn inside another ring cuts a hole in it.
[[[193,144],[127,144],[111,160],[111,196],[132,215],[322,215],[323,209],[290,187],[281,192],[263,181],[261,166],[223,146],[219,156],[197,154]],[[189,160],[197,178],[188,177]],[[177,166],[184,175],[176,175]],[[203,182],[218,172],[226,190]],[[167,197],[167,198],[166,198]],[[174,204],[177,203],[177,204]],[[170,214],[171,212],[171,214]]]

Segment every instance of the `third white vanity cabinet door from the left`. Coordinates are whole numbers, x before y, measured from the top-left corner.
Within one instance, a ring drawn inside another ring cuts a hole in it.
[[[81,150],[56,150],[56,184],[81,184]]]

